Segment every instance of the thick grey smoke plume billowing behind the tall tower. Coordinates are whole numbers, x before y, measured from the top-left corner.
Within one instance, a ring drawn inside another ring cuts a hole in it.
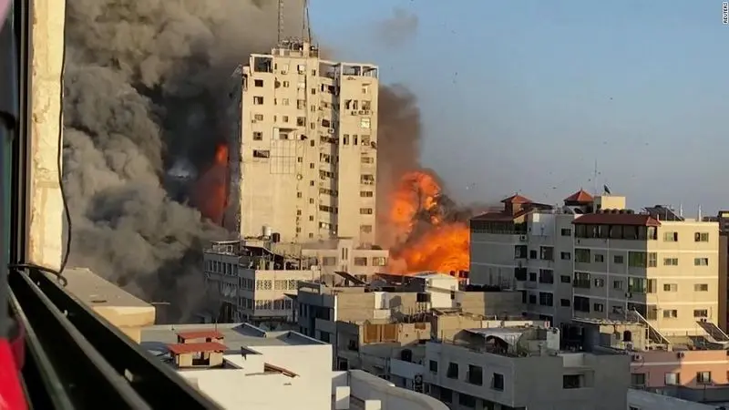
[[[284,36],[301,36],[302,1],[284,0]],[[223,84],[251,52],[274,46],[277,3],[67,1],[71,264],[171,302],[169,320],[185,320],[204,302],[200,250],[228,234],[188,203],[194,179],[169,183],[169,170],[198,175],[210,164],[225,138]],[[380,164],[385,179],[397,179],[416,164],[419,114],[404,89],[381,96]]]

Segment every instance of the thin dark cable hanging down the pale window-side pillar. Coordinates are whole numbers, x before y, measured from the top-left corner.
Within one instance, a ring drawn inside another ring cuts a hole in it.
[[[30,54],[32,52],[32,44],[33,44],[33,36],[31,33],[28,33],[27,36],[27,50],[26,53]],[[31,59],[27,58],[27,64],[30,64]],[[27,67],[26,73],[27,73]],[[36,263],[11,263],[8,265],[9,269],[35,269],[40,272],[46,272],[53,276],[56,276],[56,280],[60,282],[61,286],[66,287],[68,284],[68,280],[63,275],[64,270],[66,269],[66,266],[68,264],[68,258],[71,254],[71,232],[72,229],[72,223],[71,223],[71,211],[68,209],[68,201],[66,199],[66,185],[64,184],[63,180],[63,95],[64,95],[64,77],[66,75],[66,44],[64,43],[62,51],[61,51],[61,75],[60,75],[60,93],[58,93],[58,100],[59,100],[59,106],[58,106],[58,137],[57,137],[57,144],[58,144],[58,154],[56,156],[56,166],[58,167],[58,188],[61,191],[61,202],[63,203],[63,211],[64,211],[64,218],[66,219],[66,225],[67,225],[67,234],[66,234],[66,246],[63,251],[63,256],[61,258],[61,266],[56,271],[55,269],[48,268],[46,266],[38,265]],[[26,74],[27,77],[27,74]],[[26,100],[28,100],[27,94],[30,94],[30,81],[28,81],[27,87],[25,90],[22,90],[23,92],[26,92]],[[24,120],[26,122],[29,122],[28,116],[25,116]],[[26,127],[26,130],[29,129],[29,127]],[[18,140],[27,140],[26,138],[18,138]]]

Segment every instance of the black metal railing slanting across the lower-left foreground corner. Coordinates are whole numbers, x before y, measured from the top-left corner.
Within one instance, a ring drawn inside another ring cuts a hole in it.
[[[11,271],[11,313],[26,333],[33,408],[217,409],[45,273]]]

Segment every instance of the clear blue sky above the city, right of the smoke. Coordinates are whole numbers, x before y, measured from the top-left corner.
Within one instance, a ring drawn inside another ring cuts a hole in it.
[[[372,34],[397,7],[416,28]],[[310,0],[310,14],[337,57],[416,93],[422,162],[458,199],[555,202],[592,190],[597,160],[631,207],[729,208],[720,1]]]

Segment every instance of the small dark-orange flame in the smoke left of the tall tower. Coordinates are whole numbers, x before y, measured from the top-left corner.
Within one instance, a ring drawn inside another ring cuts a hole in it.
[[[210,169],[198,180],[194,200],[204,218],[222,225],[222,217],[227,206],[228,190],[228,146],[219,145]]]

